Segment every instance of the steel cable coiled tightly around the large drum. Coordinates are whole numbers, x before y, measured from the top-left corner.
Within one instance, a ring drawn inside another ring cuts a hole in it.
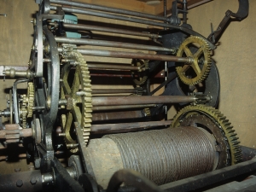
[[[106,135],[117,143],[124,167],[157,184],[210,172],[218,156],[206,133],[195,127]]]

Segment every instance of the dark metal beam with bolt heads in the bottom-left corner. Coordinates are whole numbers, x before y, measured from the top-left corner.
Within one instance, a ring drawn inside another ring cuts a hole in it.
[[[42,176],[41,172],[16,172],[15,174],[0,176],[0,191],[42,191]]]

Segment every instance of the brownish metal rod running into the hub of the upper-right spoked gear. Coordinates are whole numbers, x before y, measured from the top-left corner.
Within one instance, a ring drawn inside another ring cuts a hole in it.
[[[62,48],[58,48],[61,52]],[[101,50],[101,49],[77,49],[83,55],[93,55],[93,56],[104,56],[104,57],[114,57],[114,58],[128,58],[128,59],[147,59],[155,61],[174,61],[174,62],[184,62],[192,63],[192,59],[189,57],[177,57],[171,55],[152,55],[144,53],[134,53],[126,51],[113,51],[113,50]]]

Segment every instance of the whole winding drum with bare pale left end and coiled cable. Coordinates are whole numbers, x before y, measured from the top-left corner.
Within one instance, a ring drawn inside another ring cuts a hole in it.
[[[103,188],[123,167],[162,184],[211,172],[218,162],[211,134],[195,127],[106,135],[92,139],[88,150],[96,181]],[[100,158],[104,154],[107,157]]]

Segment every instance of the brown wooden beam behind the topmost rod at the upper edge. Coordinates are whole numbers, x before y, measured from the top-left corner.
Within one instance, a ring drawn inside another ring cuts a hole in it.
[[[77,0],[73,0],[73,2],[76,2]],[[79,0],[81,3],[91,3],[96,5],[102,5],[112,8],[118,8],[118,9],[127,9],[132,11],[137,11],[141,13],[146,14],[152,14],[154,15],[154,6],[148,5],[144,2],[139,2],[136,0]]]

